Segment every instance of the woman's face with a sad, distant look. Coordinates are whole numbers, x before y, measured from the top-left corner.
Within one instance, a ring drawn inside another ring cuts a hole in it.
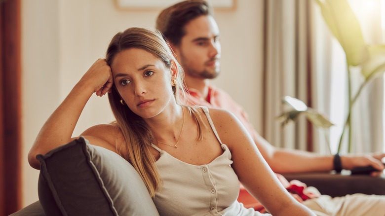
[[[123,50],[115,56],[111,70],[120,97],[142,118],[151,118],[175,103],[171,80],[176,74],[152,53],[140,48]]]

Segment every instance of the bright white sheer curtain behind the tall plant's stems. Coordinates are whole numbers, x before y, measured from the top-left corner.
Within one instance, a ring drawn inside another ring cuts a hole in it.
[[[359,19],[365,42],[384,43],[381,31],[382,0],[348,0]],[[347,116],[347,68],[345,53],[338,41],[330,34],[317,7],[314,10],[314,70],[317,74],[318,110],[326,113],[336,125],[330,129],[332,153],[337,152],[343,125]],[[360,68],[350,68],[353,77],[352,95],[363,78]],[[363,89],[352,109],[351,152],[375,152],[384,149],[384,79],[377,76]],[[320,140],[320,143],[323,141]],[[344,138],[341,152],[347,152]]]

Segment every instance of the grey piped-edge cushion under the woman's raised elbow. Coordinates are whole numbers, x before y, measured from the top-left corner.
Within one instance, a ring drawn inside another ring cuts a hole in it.
[[[113,151],[80,137],[37,158],[47,216],[158,215],[136,170]]]

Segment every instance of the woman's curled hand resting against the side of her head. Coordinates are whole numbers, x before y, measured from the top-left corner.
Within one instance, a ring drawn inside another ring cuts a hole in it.
[[[113,75],[106,59],[98,59],[81,77],[79,82],[90,85],[97,96],[103,96],[107,92],[111,92],[114,84]]]

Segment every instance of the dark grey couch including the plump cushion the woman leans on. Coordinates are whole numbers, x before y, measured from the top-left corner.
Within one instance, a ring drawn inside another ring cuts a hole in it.
[[[142,179],[121,156],[80,137],[38,155],[39,201],[11,216],[156,216]],[[332,173],[285,174],[322,194],[385,195],[385,177]]]

